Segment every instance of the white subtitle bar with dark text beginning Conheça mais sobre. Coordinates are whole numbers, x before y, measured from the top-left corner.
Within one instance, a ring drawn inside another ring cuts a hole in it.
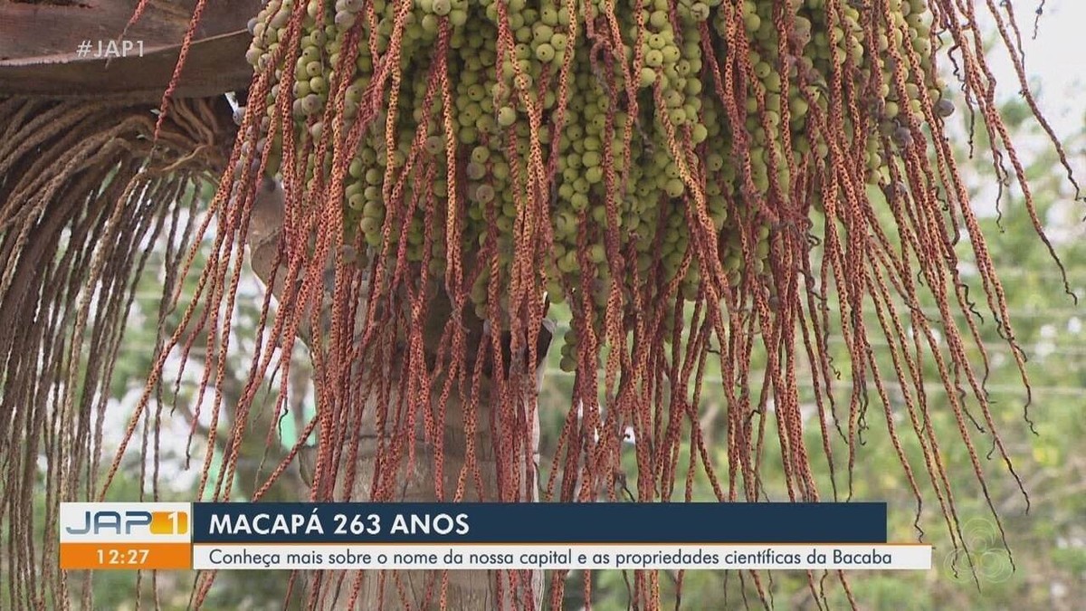
[[[930,545],[197,544],[193,569],[775,569],[932,568]]]

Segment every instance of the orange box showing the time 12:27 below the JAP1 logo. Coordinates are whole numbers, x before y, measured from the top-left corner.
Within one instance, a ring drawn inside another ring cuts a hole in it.
[[[187,543],[62,543],[60,547],[64,571],[192,568],[192,546]]]

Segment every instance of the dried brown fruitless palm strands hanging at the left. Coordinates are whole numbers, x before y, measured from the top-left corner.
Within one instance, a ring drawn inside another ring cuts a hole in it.
[[[236,127],[225,99],[175,100],[154,140],[157,108],[0,99],[3,608],[70,604],[56,503],[99,494],[109,385],[136,280],[163,242],[166,269],[181,265],[194,192],[228,157]],[[176,279],[167,273],[163,304]],[[34,502],[42,490],[43,514]]]

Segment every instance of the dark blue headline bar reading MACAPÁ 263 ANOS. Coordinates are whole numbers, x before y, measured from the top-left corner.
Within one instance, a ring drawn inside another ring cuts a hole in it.
[[[886,503],[193,503],[192,543],[884,544]]]

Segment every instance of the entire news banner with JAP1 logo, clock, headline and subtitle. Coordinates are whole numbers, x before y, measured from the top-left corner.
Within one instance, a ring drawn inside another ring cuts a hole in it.
[[[64,570],[929,570],[885,503],[61,503]]]

